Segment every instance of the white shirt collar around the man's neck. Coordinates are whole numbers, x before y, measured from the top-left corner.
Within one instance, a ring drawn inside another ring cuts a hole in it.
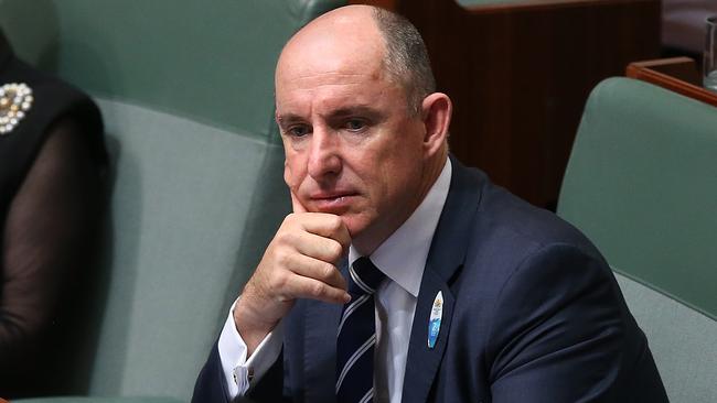
[[[371,254],[371,261],[392,281],[418,297],[428,250],[443,210],[451,181],[450,159],[414,214]],[[349,262],[361,258],[353,244]]]

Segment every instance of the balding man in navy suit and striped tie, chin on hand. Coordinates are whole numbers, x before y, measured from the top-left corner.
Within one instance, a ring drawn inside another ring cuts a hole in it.
[[[381,9],[331,11],[285,46],[293,214],[195,402],[666,401],[598,251],[449,157],[434,87],[420,35]]]

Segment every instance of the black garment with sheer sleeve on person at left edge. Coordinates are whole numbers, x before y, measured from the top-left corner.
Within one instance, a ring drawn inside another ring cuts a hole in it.
[[[17,59],[0,32],[0,86],[23,83],[32,107],[0,135],[0,396],[77,393],[67,360],[88,357],[106,153],[95,104]],[[85,346],[82,346],[85,345]]]

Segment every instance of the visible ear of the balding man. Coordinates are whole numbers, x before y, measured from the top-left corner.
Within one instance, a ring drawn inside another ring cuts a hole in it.
[[[426,128],[424,149],[426,156],[436,154],[448,139],[448,128],[451,121],[453,105],[442,92],[434,92],[421,105],[421,119]]]

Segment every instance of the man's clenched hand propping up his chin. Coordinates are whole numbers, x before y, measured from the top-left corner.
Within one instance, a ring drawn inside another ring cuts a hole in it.
[[[297,298],[351,299],[336,268],[351,244],[345,225],[335,215],[308,213],[293,194],[291,202],[293,214],[283,219],[234,308],[247,357]]]

